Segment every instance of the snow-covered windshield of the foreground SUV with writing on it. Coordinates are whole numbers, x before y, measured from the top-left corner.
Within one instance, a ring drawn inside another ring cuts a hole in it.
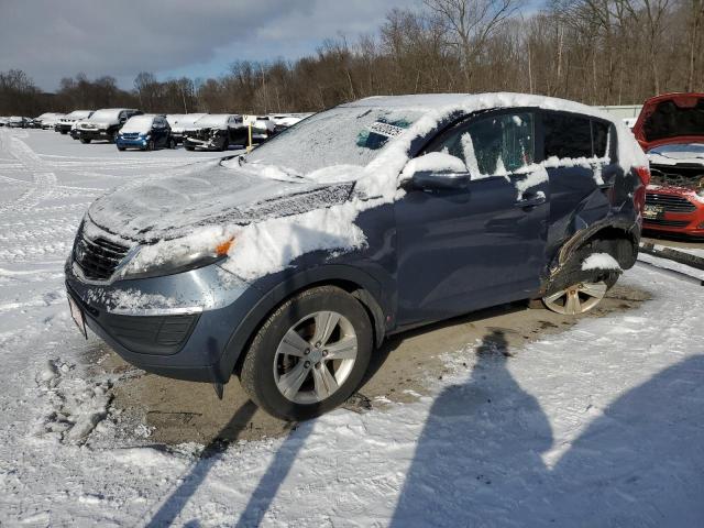
[[[336,165],[363,167],[420,116],[417,110],[337,107],[287,129],[252,151],[246,161],[304,175]]]

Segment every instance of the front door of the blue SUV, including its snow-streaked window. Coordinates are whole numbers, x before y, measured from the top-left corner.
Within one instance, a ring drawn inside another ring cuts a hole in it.
[[[398,323],[439,320],[530,297],[544,268],[547,175],[534,164],[532,110],[486,113],[453,127],[421,154],[460,158],[463,189],[406,186],[395,202]]]

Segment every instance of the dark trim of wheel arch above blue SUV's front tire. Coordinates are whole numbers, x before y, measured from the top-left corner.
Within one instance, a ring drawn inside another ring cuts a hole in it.
[[[272,312],[289,298],[318,286],[337,286],[355,297],[370,318],[375,346],[381,345],[386,334],[386,317],[380,283],[356,267],[319,266],[277,283],[258,300],[232,332],[218,364],[218,377],[227,382],[231,374],[239,372],[250,343]]]

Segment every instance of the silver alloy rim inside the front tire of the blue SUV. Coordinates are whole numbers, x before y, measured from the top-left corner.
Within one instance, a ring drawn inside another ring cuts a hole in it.
[[[274,380],[296,404],[329,398],[350,376],[358,356],[352,323],[336,311],[317,311],[290,327],[274,356]]]

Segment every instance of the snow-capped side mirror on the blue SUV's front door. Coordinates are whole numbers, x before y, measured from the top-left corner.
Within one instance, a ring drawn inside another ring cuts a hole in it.
[[[404,176],[420,189],[463,189],[471,179],[464,162],[446,152],[430,152],[411,160]]]

